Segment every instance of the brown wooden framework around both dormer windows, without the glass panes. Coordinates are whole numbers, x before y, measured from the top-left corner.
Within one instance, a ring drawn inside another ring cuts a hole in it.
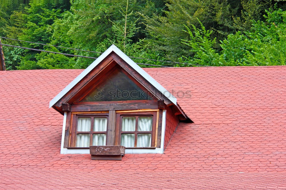
[[[140,116],[152,116],[152,130],[150,132],[136,131],[134,132],[122,132],[122,133],[133,133],[137,134],[149,133],[151,134],[151,147],[126,147],[127,149],[154,149],[160,147],[161,141],[161,127],[160,124],[162,117],[162,110],[122,110],[122,111],[102,111],[102,112],[68,112],[67,123],[65,130],[64,148],[67,149],[89,149],[89,147],[76,147],[77,134],[90,134],[90,145],[92,145],[93,134],[106,134],[106,145],[120,145],[121,139],[121,125],[122,117],[124,116],[135,116],[137,117],[136,130],[138,129],[138,118]],[[80,117],[106,117],[107,118],[107,131],[106,132],[93,132],[94,119],[91,120],[91,131],[90,132],[78,132],[77,123]],[[159,122],[159,123],[158,123]],[[137,142],[134,142],[137,145]]]

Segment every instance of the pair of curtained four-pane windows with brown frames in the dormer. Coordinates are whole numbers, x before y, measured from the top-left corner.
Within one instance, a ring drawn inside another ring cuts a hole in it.
[[[110,111],[114,114],[114,111]],[[156,148],[157,114],[159,110],[137,112],[115,111],[115,122],[109,112],[71,113],[71,139],[68,149],[90,146],[122,145],[126,148]]]

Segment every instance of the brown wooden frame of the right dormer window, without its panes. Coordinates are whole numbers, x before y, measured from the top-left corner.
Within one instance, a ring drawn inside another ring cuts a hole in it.
[[[138,120],[139,117],[152,117],[152,129],[151,131],[138,131]],[[123,117],[135,117],[135,131],[122,131],[122,118]],[[120,145],[121,135],[122,134],[135,134],[134,147],[126,147],[126,148],[156,148],[156,128],[157,126],[157,112],[129,112],[129,113],[117,113],[116,114],[116,138],[115,143]],[[138,134],[151,134],[151,146],[150,147],[137,147],[137,136]]]

